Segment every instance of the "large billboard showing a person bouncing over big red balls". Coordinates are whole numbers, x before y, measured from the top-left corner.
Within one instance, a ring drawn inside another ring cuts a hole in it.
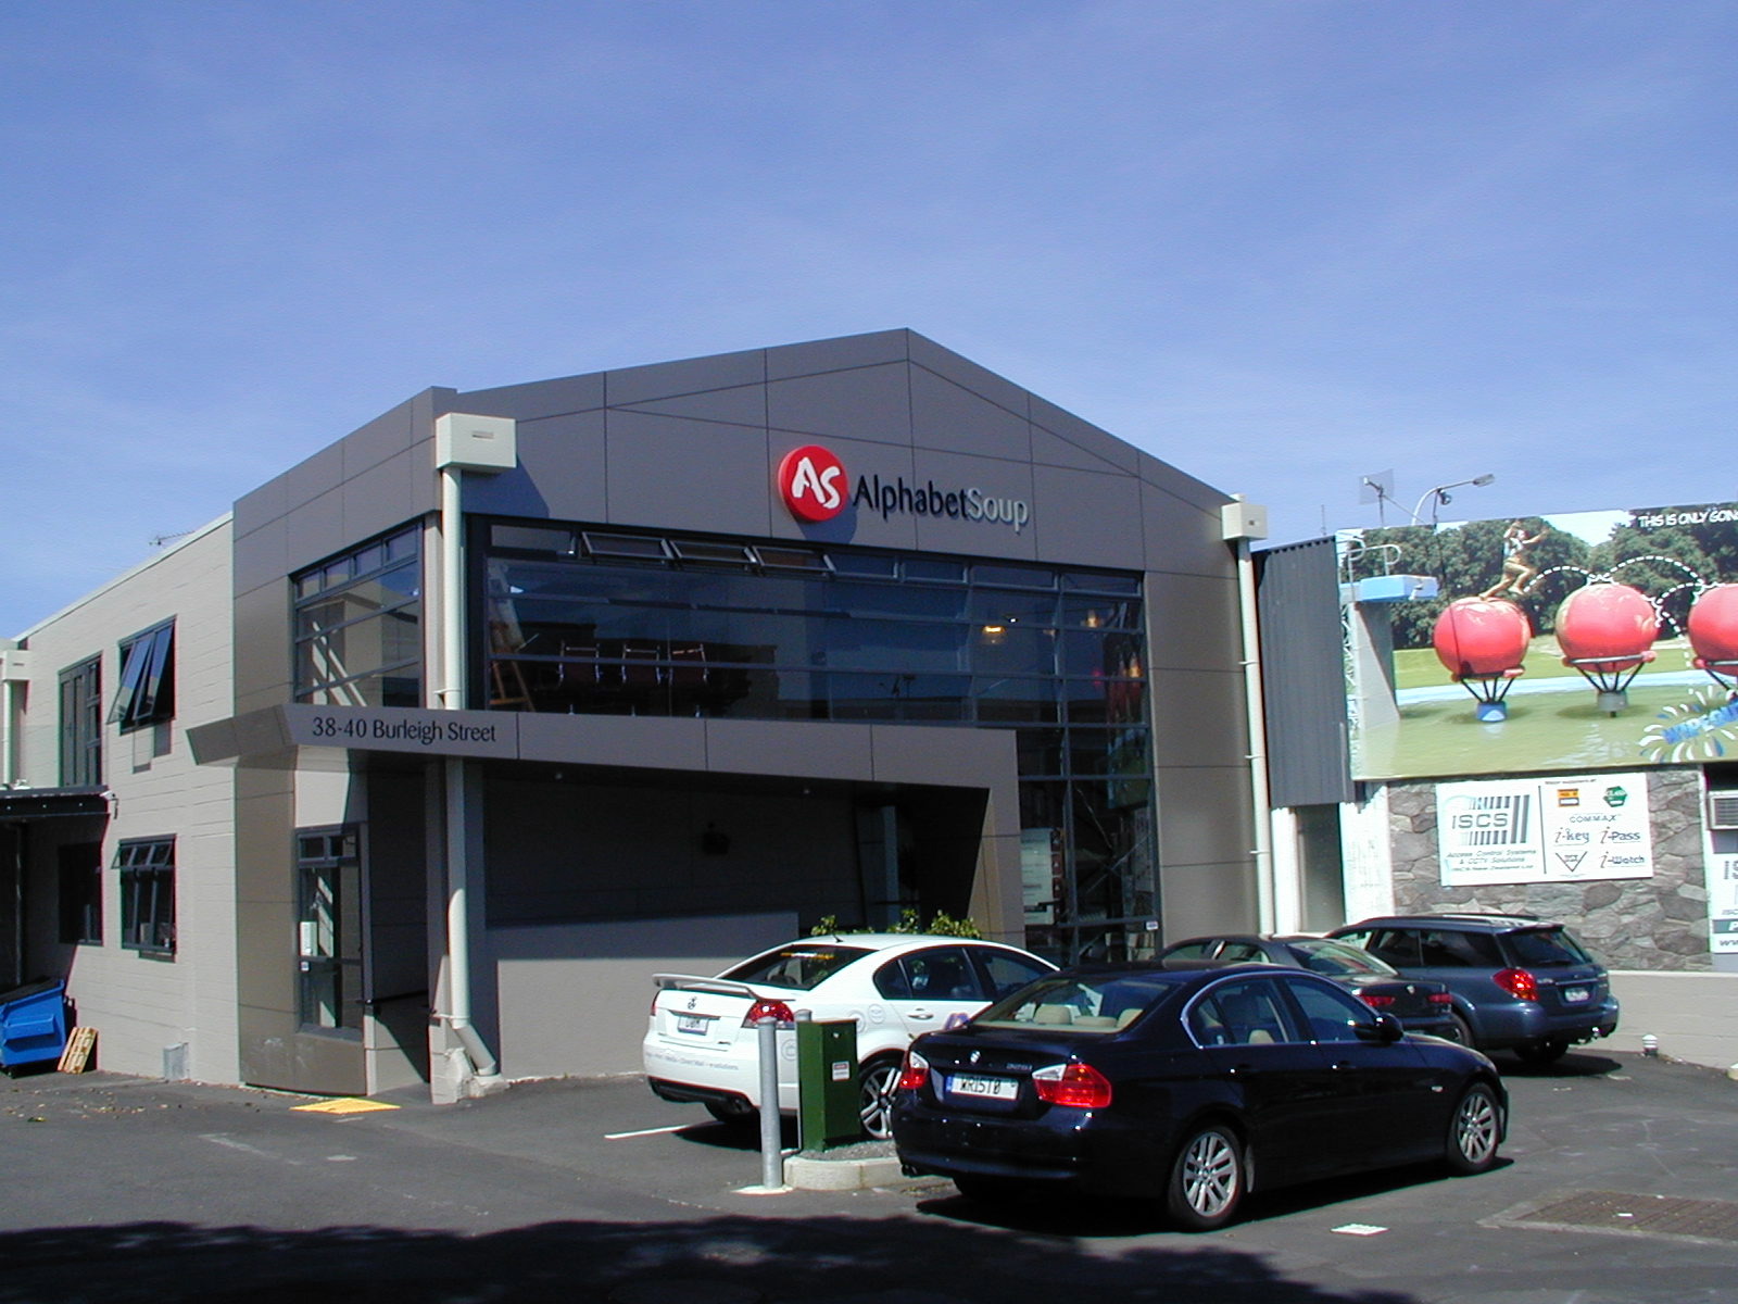
[[[1342,532],[1352,774],[1738,758],[1738,504]]]

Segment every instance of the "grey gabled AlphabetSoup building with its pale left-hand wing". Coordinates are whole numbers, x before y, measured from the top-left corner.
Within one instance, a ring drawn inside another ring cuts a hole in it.
[[[1253,923],[1260,534],[907,330],[428,389],[0,654],[0,981],[454,1099],[829,918]]]

